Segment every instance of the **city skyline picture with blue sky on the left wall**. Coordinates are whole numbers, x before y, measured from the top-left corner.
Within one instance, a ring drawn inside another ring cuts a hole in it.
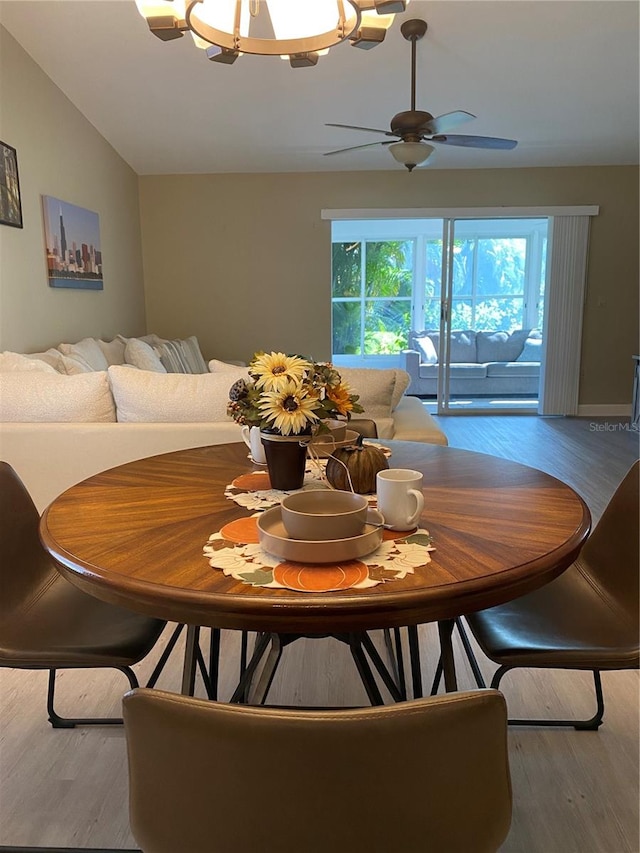
[[[42,211],[49,285],[102,290],[98,214],[48,195],[42,196]]]

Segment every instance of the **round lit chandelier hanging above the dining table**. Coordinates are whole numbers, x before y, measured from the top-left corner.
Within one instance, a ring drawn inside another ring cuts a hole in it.
[[[365,50],[384,40],[409,0],[136,0],[162,41],[190,32],[208,59],[227,65],[243,53],[281,56],[292,68],[316,65],[349,40]]]

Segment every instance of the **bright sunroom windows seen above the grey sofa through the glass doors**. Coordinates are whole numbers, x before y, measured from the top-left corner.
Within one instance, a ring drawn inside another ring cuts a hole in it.
[[[333,356],[398,355],[438,329],[442,219],[343,220],[332,230]],[[542,328],[547,219],[456,219],[452,329]]]

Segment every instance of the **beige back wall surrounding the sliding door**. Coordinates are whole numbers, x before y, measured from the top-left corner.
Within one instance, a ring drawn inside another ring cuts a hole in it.
[[[590,205],[581,405],[628,403],[638,352],[636,167],[140,178],[147,320],[207,357],[259,348],[328,358],[323,208]]]

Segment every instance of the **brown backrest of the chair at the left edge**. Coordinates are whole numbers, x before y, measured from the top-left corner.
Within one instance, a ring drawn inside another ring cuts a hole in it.
[[[38,536],[40,517],[22,480],[0,462],[0,618],[7,618],[55,574]]]

